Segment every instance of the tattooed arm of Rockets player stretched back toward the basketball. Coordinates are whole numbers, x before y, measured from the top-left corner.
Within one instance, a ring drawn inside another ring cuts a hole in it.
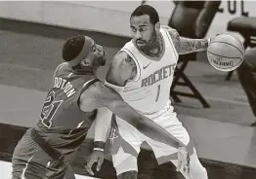
[[[181,37],[177,30],[169,26],[163,26],[168,30],[178,54],[190,54],[206,51],[208,48],[208,39],[190,39]]]

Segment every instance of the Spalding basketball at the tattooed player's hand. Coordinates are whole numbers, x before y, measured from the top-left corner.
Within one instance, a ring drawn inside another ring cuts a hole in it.
[[[207,49],[210,64],[220,71],[233,71],[243,61],[244,47],[240,40],[224,33],[211,40]]]

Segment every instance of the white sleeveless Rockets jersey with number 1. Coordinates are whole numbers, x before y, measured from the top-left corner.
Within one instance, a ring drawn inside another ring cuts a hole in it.
[[[128,81],[120,93],[123,99],[143,114],[159,111],[169,102],[173,74],[178,60],[178,53],[167,30],[161,28],[164,40],[164,53],[158,60],[152,60],[142,54],[132,41],[120,51],[129,54],[137,65],[137,75]]]

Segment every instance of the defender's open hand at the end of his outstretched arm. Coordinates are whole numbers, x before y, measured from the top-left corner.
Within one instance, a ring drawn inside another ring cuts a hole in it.
[[[179,147],[178,148],[178,165],[176,168],[176,171],[181,171],[183,169],[183,172],[186,173],[186,175],[191,178],[191,173],[190,173],[190,155],[187,151],[186,147]]]

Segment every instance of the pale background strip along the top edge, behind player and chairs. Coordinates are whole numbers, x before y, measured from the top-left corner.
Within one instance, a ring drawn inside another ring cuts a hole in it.
[[[140,4],[141,1],[0,2],[0,17],[129,37],[129,17]],[[147,4],[157,10],[161,23],[167,24],[174,9],[173,1],[147,1]],[[232,18],[256,16],[255,5],[255,1],[223,1],[207,37],[226,31],[227,22]]]

